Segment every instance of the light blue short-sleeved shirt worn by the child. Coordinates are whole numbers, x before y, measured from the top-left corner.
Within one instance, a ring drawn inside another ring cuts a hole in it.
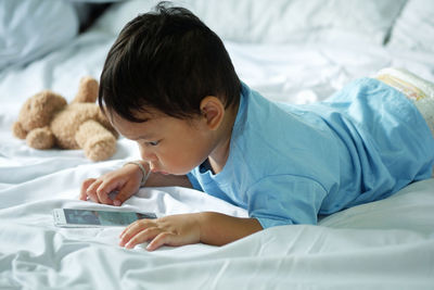
[[[433,164],[434,138],[416,106],[361,78],[307,105],[275,103],[243,85],[224,169],[202,164],[188,177],[267,228],[384,199],[430,178]]]

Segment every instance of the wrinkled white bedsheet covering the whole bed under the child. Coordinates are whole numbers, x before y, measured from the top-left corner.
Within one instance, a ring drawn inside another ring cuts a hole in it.
[[[117,245],[122,228],[54,227],[54,207],[108,207],[77,200],[80,184],[138,159],[136,144],[122,138],[111,160],[92,163],[79,150],[29,149],[10,127],[24,100],[41,89],[72,100],[80,77],[99,77],[113,41],[93,29],[25,67],[0,72],[0,289],[434,289],[434,179],[319,226],[270,228],[220,248],[125,250]],[[226,46],[241,79],[279,101],[322,100],[390,65],[434,80],[429,52],[346,42]],[[183,188],[141,189],[122,210],[246,216]]]

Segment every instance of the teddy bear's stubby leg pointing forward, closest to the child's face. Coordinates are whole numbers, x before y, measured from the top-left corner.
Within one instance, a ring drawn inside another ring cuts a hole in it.
[[[89,119],[80,125],[75,139],[92,161],[102,161],[116,152],[116,138],[100,123]]]

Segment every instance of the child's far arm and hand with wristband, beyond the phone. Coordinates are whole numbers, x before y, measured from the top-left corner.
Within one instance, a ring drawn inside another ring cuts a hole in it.
[[[149,171],[149,165],[142,162],[143,167]],[[81,184],[80,200],[88,198],[94,202],[120,205],[135,194],[142,180],[143,173],[136,164],[127,164],[126,166],[106,173],[99,178],[88,178]],[[189,178],[184,175],[162,175],[151,174],[145,184],[146,187],[166,187],[181,186],[192,188]],[[108,198],[108,193],[117,190],[118,193],[114,201]]]

